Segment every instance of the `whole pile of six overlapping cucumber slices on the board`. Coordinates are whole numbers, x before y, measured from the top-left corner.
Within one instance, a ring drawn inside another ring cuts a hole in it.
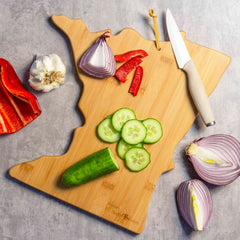
[[[118,156],[125,160],[129,170],[139,172],[151,162],[144,143],[156,143],[162,135],[161,123],[154,118],[143,121],[129,108],[120,108],[101,121],[97,127],[99,138],[108,143],[118,142]]]

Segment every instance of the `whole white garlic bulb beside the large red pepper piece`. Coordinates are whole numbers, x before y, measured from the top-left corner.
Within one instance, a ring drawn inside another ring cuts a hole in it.
[[[66,67],[57,54],[36,56],[28,82],[30,86],[42,92],[49,92],[65,82]]]

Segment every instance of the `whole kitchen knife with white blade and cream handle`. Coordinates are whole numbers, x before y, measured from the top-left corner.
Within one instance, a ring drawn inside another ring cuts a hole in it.
[[[191,59],[184,40],[180,34],[177,24],[170,12],[167,9],[166,23],[168,36],[175,54],[178,67],[183,69],[188,76],[188,88],[192,96],[194,104],[201,115],[205,125],[212,126],[215,124],[212,109],[208,100],[207,93],[198,74],[198,71]]]

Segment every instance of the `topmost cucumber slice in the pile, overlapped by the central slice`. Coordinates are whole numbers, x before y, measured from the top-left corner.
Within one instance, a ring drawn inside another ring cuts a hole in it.
[[[130,119],[136,119],[134,111],[129,108],[120,108],[112,116],[112,125],[120,132],[123,124]]]

